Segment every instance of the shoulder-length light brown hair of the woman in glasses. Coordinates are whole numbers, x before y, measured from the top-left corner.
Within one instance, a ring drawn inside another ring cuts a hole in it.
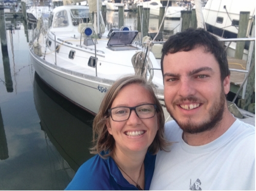
[[[156,137],[152,144],[149,147],[149,151],[155,155],[159,149],[166,150],[166,147],[170,145],[168,141],[164,139],[164,114],[162,110],[162,106],[158,101],[155,92],[153,90],[153,86],[149,84],[144,78],[138,77],[136,75],[127,76],[117,80],[111,88],[106,92],[98,114],[96,115],[93,122],[93,144],[94,146],[90,148],[91,154],[99,154],[101,157],[108,157],[112,155],[112,152],[115,147],[115,140],[112,135],[108,133],[106,122],[109,120],[108,109],[111,108],[112,103],[116,99],[120,90],[130,84],[138,84],[145,89],[147,89],[153,97],[154,104],[156,104],[156,113],[159,129],[156,133]],[[102,156],[101,151],[107,153]]]

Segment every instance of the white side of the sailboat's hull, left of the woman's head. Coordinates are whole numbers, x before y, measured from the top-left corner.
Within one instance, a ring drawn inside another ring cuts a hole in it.
[[[78,77],[78,75],[61,71],[62,69],[56,65],[42,63],[42,59],[32,51],[30,51],[30,56],[35,71],[53,89],[90,113],[95,114],[99,111],[101,100],[111,85],[111,81],[107,84],[100,82],[101,79],[96,77]]]

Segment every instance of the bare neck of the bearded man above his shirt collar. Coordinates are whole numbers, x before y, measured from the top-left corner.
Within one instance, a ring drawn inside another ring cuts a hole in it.
[[[234,123],[235,118],[228,111],[224,114],[223,119],[211,130],[207,130],[200,133],[188,133],[183,132],[182,139],[191,146],[206,145],[217,138],[221,137],[229,127]]]

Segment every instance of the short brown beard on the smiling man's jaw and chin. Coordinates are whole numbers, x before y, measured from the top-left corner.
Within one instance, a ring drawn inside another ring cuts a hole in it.
[[[190,97],[190,98],[187,98],[186,100],[197,100],[197,98]],[[171,112],[171,110],[168,107],[167,107],[167,110],[184,132],[194,134],[194,133],[211,130],[214,127],[216,127],[223,118],[225,103],[226,103],[226,96],[222,87],[222,92],[220,94],[220,101],[214,104],[209,110],[210,119],[208,121],[202,121],[199,123],[193,123],[191,118],[189,118],[186,122],[179,122],[177,119],[174,118],[173,112]]]

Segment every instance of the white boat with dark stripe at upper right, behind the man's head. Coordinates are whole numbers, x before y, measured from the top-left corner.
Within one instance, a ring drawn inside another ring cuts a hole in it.
[[[255,15],[254,0],[208,0],[204,9],[204,21],[207,31],[215,34],[220,39],[235,39],[239,30],[239,19],[241,11],[249,11],[249,23],[246,37],[252,36],[252,21]],[[249,41],[245,44],[244,58],[247,60]],[[226,43],[226,45],[228,42]],[[235,43],[231,43],[227,50],[228,55],[234,57]]]

